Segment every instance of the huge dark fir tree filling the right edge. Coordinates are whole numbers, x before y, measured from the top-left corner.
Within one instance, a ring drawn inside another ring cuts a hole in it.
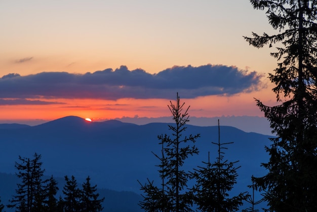
[[[268,173],[253,178],[263,189],[270,211],[315,211],[317,209],[317,1],[250,0],[266,10],[276,34],[245,37],[250,45],[272,47],[278,62],[269,79],[280,105],[257,105],[270,121],[270,155],[262,166]]]

